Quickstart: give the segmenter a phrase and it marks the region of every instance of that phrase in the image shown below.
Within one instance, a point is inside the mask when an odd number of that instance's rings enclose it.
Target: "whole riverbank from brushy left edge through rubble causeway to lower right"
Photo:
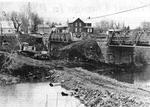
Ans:
[[[17,82],[62,82],[63,88],[78,90],[75,97],[87,107],[150,106],[149,91],[84,70],[79,66],[81,62],[39,61],[18,54],[7,56],[9,60],[1,73],[19,78]]]

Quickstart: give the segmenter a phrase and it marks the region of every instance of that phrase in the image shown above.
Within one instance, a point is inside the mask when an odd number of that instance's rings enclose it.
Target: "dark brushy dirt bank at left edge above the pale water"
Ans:
[[[34,60],[18,54],[1,53],[1,74],[18,78],[18,82],[41,82],[52,79],[50,69],[44,61]],[[7,83],[7,79],[5,79]],[[12,81],[13,83],[13,81]]]

